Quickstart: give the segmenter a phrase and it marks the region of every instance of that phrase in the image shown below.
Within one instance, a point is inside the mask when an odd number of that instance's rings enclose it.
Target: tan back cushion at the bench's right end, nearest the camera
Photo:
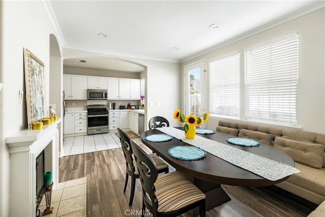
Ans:
[[[277,137],[274,147],[288,154],[295,162],[317,169],[322,167],[324,147],[320,144]]]

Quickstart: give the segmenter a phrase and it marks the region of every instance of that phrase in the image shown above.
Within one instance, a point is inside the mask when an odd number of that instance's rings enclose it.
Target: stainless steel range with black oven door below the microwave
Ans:
[[[88,108],[88,135],[108,133],[107,108]]]

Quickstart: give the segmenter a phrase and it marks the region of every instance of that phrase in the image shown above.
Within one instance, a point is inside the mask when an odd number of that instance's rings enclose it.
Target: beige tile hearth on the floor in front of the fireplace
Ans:
[[[74,216],[86,217],[87,177],[73,179],[58,183],[58,187],[52,191],[51,206],[53,213],[45,216]],[[46,209],[45,196],[41,201],[39,210],[43,216]]]

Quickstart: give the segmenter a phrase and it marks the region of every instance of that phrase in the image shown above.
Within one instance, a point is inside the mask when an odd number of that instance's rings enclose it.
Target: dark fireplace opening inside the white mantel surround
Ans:
[[[40,216],[39,206],[44,195],[44,150],[36,158],[36,216]]]

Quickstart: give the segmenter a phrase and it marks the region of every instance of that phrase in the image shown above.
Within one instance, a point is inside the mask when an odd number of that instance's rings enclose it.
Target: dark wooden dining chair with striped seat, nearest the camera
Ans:
[[[177,216],[199,206],[205,217],[205,194],[180,172],[158,176],[157,165],[150,156],[131,140],[142,185],[142,217],[146,208],[157,216]]]

